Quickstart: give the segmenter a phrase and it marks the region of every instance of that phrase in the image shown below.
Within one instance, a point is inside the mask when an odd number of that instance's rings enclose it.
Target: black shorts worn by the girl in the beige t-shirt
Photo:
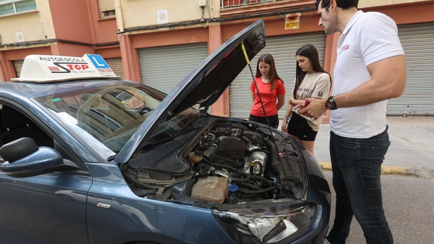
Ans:
[[[307,123],[307,120],[296,112],[291,113],[287,129],[289,134],[298,137],[299,140],[313,141],[317,137],[318,133],[312,130],[312,127]]]

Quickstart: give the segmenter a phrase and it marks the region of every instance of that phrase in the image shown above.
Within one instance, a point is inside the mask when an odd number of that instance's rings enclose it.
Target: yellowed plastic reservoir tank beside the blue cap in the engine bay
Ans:
[[[227,178],[208,176],[199,178],[191,190],[191,197],[198,200],[222,203],[227,193]]]

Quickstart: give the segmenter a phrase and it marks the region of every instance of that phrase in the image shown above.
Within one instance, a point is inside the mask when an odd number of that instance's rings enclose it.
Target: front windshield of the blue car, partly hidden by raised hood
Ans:
[[[149,114],[165,98],[162,93],[139,84],[118,84],[38,97],[81,139],[103,158],[117,154]],[[195,117],[188,108],[162,123],[149,143],[175,137]]]

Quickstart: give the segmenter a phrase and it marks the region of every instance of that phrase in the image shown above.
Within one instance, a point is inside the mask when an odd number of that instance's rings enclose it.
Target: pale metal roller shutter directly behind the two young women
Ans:
[[[304,44],[312,44],[318,49],[320,63],[324,64],[325,35],[324,33],[311,33],[300,35],[285,35],[268,37],[265,47],[253,58],[251,66],[253,75],[256,72],[256,62],[261,54],[269,53],[276,63],[276,70],[285,82],[286,101],[289,100],[290,92],[294,86],[295,78],[295,52]],[[252,75],[249,67],[246,67],[232,82],[229,88],[230,116],[237,118],[249,118],[252,108],[252,95],[250,84]],[[285,116],[288,102],[279,110],[279,118]]]

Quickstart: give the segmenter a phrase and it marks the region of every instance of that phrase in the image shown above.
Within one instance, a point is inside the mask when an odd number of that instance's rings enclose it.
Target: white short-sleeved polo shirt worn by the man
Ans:
[[[367,66],[403,55],[398,28],[390,17],[378,12],[357,11],[337,44],[333,72],[333,96],[350,92],[371,79]],[[370,138],[386,129],[386,101],[330,111],[330,129],[349,138]]]

